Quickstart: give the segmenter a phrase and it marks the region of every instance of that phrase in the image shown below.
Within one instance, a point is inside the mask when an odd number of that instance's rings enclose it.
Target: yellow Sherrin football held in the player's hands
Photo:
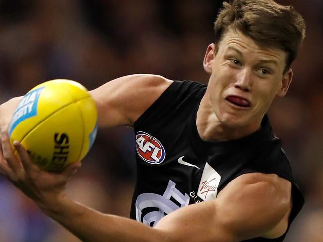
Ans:
[[[10,142],[19,141],[32,162],[49,172],[81,161],[96,131],[93,99],[80,83],[63,79],[31,89],[18,104],[8,127]]]

